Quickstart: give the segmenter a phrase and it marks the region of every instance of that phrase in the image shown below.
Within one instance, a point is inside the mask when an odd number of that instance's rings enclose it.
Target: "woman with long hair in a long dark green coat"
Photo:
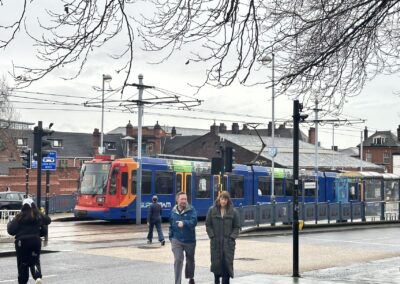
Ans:
[[[236,238],[239,236],[239,213],[233,207],[229,192],[222,191],[207,213],[206,230],[210,238],[211,272],[214,283],[228,284],[233,278]]]

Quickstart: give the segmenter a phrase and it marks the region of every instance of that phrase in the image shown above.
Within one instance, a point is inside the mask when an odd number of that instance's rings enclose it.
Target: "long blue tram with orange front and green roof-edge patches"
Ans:
[[[114,160],[105,155],[85,162],[80,173],[75,216],[103,220],[135,219],[138,167],[132,158]],[[300,171],[299,202],[370,200],[376,198],[374,186],[378,180],[383,187],[381,174],[370,174],[367,178],[366,174],[319,172],[316,178],[313,172]],[[391,188],[391,191],[387,190],[387,196],[398,200],[399,177],[397,183],[395,181],[395,176],[392,176],[391,183],[387,183]],[[275,168],[272,192],[269,167],[235,164],[232,173],[221,177],[211,174],[208,161],[144,157],[141,216],[147,218],[147,207],[152,196],[157,195],[163,206],[163,217],[168,217],[179,191],[187,193],[199,216],[205,216],[218,195],[220,183],[230,192],[235,206],[290,202],[293,199],[294,183],[290,169]]]

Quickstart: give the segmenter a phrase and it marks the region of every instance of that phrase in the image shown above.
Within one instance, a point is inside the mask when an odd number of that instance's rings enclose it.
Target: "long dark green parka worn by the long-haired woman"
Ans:
[[[206,218],[206,230],[210,238],[211,272],[222,274],[224,257],[229,275],[233,278],[236,238],[240,230],[239,213],[231,205],[222,218],[219,207],[210,207]]]

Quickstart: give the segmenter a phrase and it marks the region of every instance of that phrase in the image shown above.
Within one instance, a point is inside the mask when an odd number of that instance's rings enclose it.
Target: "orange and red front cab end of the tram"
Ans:
[[[82,165],[75,217],[102,220],[134,218],[137,162],[96,155]],[[131,182],[129,182],[131,181]]]

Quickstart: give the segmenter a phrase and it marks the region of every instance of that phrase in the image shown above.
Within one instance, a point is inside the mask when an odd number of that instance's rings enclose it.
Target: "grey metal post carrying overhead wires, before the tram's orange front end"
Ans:
[[[143,117],[143,75],[139,74],[138,134],[137,134],[137,182],[136,182],[136,224],[142,222],[142,117]]]

